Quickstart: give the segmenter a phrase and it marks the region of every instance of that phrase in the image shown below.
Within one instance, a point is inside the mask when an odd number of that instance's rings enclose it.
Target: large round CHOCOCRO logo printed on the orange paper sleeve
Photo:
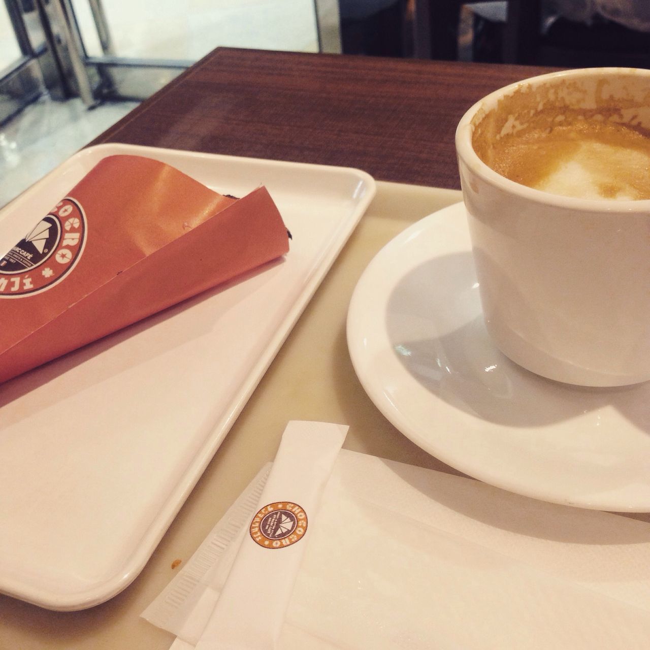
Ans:
[[[51,289],[70,273],[86,244],[86,215],[65,198],[0,259],[0,298]]]

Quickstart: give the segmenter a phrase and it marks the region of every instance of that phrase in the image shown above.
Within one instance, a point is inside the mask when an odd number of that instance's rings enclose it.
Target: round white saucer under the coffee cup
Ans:
[[[372,260],[348,346],[383,415],[448,465],[536,499],[650,512],[650,382],[575,387],[503,356],[484,327],[462,203]]]

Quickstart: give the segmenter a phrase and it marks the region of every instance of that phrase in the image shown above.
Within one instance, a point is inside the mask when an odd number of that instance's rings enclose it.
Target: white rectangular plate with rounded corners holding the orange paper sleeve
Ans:
[[[0,385],[0,591],[55,610],[140,573],[375,192],[359,170],[105,144],[1,210],[0,247],[116,153],[235,196],[265,185],[293,239],[262,272]]]

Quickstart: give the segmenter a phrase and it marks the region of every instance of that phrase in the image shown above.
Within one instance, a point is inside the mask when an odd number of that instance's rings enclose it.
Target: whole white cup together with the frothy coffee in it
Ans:
[[[650,70],[551,73],[472,107],[456,149],[489,334],[561,382],[650,379]]]

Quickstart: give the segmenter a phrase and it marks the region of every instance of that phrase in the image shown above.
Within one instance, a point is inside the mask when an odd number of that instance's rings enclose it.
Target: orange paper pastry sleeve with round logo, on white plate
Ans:
[[[288,250],[265,188],[235,199],[159,161],[105,158],[0,259],[0,382]]]

